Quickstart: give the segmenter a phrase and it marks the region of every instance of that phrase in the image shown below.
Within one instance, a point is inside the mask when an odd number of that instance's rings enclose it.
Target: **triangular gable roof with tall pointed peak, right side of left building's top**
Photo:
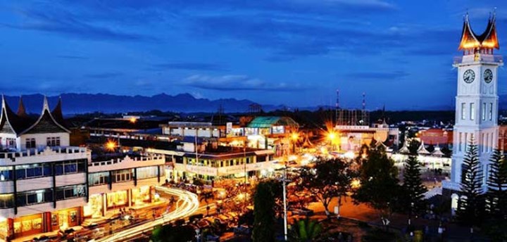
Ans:
[[[70,133],[70,131],[67,128],[63,127],[63,125],[58,123],[53,117],[53,115],[51,115],[47,97],[44,96],[44,104],[42,105],[42,113],[39,116],[39,119],[32,126],[25,129],[25,131],[21,132],[21,134],[39,134],[39,133],[57,133],[57,132]]]

